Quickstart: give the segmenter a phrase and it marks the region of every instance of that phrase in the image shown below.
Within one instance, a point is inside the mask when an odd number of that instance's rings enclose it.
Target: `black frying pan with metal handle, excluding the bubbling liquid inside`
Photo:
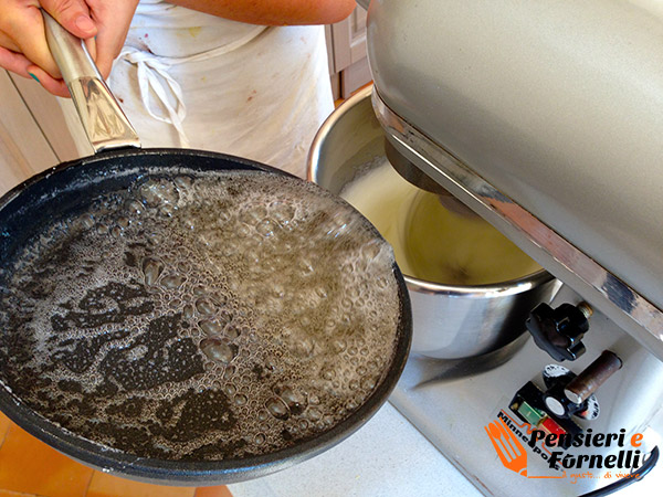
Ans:
[[[119,112],[82,44],[46,19],[49,41],[61,65],[84,126],[97,154],[62,163],[18,186],[0,199],[0,260],[3,267],[14,261],[27,240],[40,233],[53,218],[82,209],[99,194],[127,188],[155,165],[166,175],[180,172],[260,170],[282,171],[246,159],[199,150],[138,149],[133,128]],[[75,45],[75,46],[74,46]],[[75,50],[74,50],[75,49]],[[69,61],[69,62],[67,62]],[[73,62],[72,62],[73,61]],[[101,107],[99,107],[101,106]],[[102,112],[107,109],[108,112]],[[112,150],[98,151],[119,147]],[[0,410],[25,431],[57,451],[87,465],[139,480],[180,485],[227,484],[250,479],[309,458],[344,440],[360,427],[387,400],[409,352],[412,322],[404,281],[394,265],[399,286],[400,321],[397,346],[382,381],[364,404],[326,432],[278,452],[223,461],[167,461],[109,451],[63,430],[29,408],[7,387],[0,363]],[[2,331],[0,331],[2,332]],[[11,353],[11,350],[9,350]]]

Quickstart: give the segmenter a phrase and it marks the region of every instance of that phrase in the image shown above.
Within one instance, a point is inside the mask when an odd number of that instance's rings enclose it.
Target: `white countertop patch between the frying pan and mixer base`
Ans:
[[[357,433],[319,456],[229,488],[234,497],[481,495],[389,403]]]

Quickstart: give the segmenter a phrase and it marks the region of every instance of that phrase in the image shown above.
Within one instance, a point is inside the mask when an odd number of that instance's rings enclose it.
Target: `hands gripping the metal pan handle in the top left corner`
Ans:
[[[0,0],[0,67],[34,77],[54,95],[69,96],[51,56],[39,8],[86,40],[102,75],[107,77],[137,4],[138,0]]]

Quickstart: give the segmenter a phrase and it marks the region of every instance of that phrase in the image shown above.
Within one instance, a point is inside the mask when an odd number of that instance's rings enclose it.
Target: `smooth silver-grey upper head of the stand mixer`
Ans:
[[[373,0],[368,38],[386,107],[604,269],[588,294],[512,236],[663,357],[663,4]],[[649,324],[596,302],[632,307],[614,281]]]

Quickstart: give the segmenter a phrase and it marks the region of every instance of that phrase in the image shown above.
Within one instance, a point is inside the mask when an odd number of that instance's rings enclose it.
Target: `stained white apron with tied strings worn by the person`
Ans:
[[[144,147],[214,150],[301,177],[334,109],[324,27],[257,27],[160,0],[138,4],[108,85]]]

